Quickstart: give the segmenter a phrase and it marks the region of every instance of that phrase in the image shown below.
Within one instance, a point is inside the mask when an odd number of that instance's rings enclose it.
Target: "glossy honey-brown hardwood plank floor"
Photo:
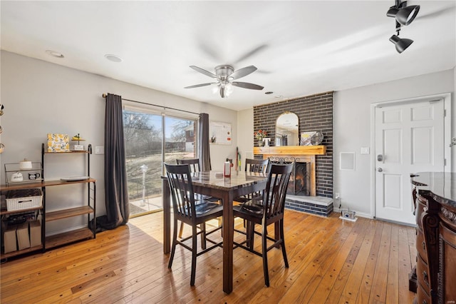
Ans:
[[[236,222],[242,227],[242,222]],[[172,270],[162,253],[162,213],[46,253],[1,265],[1,303],[412,303],[415,230],[338,214],[321,218],[286,211],[289,268],[269,251],[271,287],[261,258],[234,250],[233,292],[222,291],[222,249],[197,259],[178,247]],[[271,232],[274,229],[271,229]],[[219,233],[216,233],[219,238]],[[240,238],[241,236],[237,236]],[[260,245],[256,240],[255,245]]]

